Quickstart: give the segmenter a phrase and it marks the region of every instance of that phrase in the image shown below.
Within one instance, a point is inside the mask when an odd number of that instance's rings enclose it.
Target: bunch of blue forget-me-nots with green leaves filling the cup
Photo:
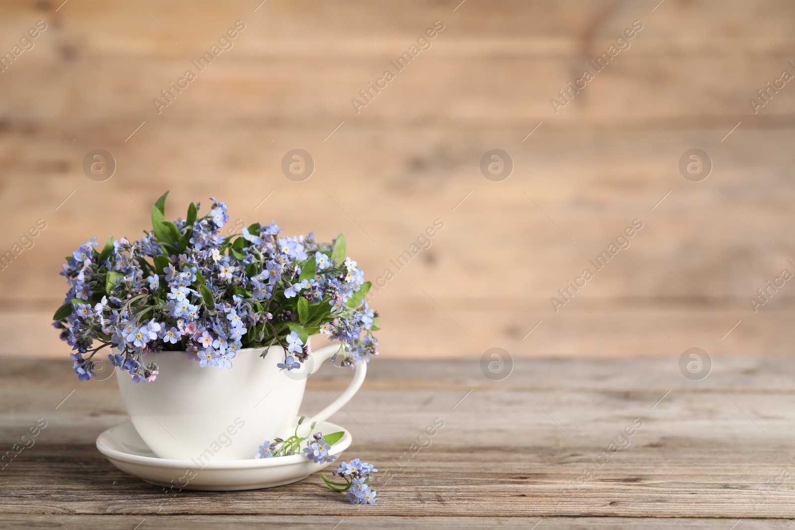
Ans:
[[[364,300],[370,282],[347,257],[343,234],[332,243],[312,233],[285,238],[271,222],[226,236],[223,202],[211,197],[202,217],[191,203],[185,219],[169,222],[168,194],[142,238],[110,238],[102,250],[93,238],[66,258],[69,290],[53,325],[72,345],[80,380],[95,377],[92,358],[106,346],[135,382],[157,377],[145,362],[153,351],[186,351],[202,367],[224,369],[242,348],[277,344],[286,352],[279,367],[291,370],[311,354],[308,337],[323,333],[342,342],[332,358],[339,366],[378,354],[378,315]]]

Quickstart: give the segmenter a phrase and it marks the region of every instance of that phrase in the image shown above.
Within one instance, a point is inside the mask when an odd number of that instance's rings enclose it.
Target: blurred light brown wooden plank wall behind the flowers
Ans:
[[[795,74],[795,4],[459,1],[3,2],[0,51],[48,29],[0,73],[0,253],[47,228],[0,272],[0,353],[68,354],[48,327],[62,257],[138,237],[165,189],[171,217],[215,195],[233,222],[347,234],[367,277],[396,273],[373,299],[384,355],[789,351],[795,280],[756,313],[748,298],[795,272],[795,82],[758,114],[748,99]],[[157,114],[238,20],[234,47]],[[437,20],[432,48],[356,114]],[[631,47],[555,114],[549,100],[633,21]],[[101,183],[82,168],[98,148],[118,164]],[[304,182],[281,173],[296,148],[316,163]],[[495,148],[514,161],[502,182],[479,169]],[[703,182],[678,170],[692,148],[712,157]],[[434,219],[444,229],[397,272]],[[553,311],[633,219],[630,248]]]

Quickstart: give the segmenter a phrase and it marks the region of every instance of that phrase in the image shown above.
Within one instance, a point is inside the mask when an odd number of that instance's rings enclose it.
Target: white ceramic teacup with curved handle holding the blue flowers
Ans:
[[[117,370],[118,388],[135,430],[160,458],[209,461],[254,458],[266,440],[287,439],[296,427],[306,379],[339,351],[339,344],[312,351],[301,368],[279,369],[285,350],[271,346],[239,350],[232,368],[218,369],[188,359],[184,352],[148,354],[157,379],[134,383]],[[353,381],[337,399],[308,416],[299,435],[308,435],[313,421],[328,420],[362,386],[366,362],[359,362]],[[330,434],[330,433],[325,433]]]

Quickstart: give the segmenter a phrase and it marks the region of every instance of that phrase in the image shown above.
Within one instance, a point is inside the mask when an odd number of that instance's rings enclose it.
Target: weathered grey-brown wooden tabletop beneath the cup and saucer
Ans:
[[[518,360],[491,381],[476,362],[377,358],[332,417],[354,437],[345,457],[394,472],[372,506],[317,475],[169,497],[95,447],[127,419],[113,378],[79,383],[66,362],[10,360],[2,451],[38,418],[47,427],[0,471],[0,528],[792,528],[795,362],[713,360],[702,381],[683,377],[677,358]],[[347,377],[321,370],[304,409]],[[432,444],[400,468],[394,458],[436,418]]]

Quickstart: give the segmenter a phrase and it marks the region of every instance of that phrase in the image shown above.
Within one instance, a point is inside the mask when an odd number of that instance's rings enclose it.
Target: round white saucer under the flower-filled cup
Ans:
[[[328,421],[320,422],[316,431],[345,431],[342,439],[329,451],[339,456],[351,446],[353,438],[343,427]],[[261,489],[284,486],[323,470],[328,463],[316,464],[302,455],[250,460],[219,460],[199,467],[192,460],[157,458],[146,446],[130,422],[111,427],[97,438],[97,449],[118,469],[156,486],[204,491]],[[251,455],[258,447],[251,448]],[[336,466],[337,462],[332,463]]]

